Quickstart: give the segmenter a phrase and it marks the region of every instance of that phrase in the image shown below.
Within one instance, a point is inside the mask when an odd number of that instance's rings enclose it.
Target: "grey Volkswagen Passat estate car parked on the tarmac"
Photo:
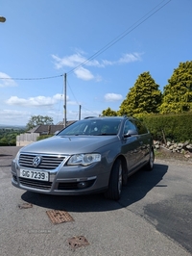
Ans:
[[[138,119],[91,117],[56,136],[22,147],[12,160],[12,185],[30,192],[104,192],[118,200],[136,170],[154,166],[153,138]]]

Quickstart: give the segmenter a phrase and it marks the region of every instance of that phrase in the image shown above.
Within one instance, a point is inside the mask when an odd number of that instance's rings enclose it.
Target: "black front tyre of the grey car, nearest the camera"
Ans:
[[[112,166],[108,183],[108,191],[105,196],[108,199],[118,200],[122,192],[123,167],[120,159],[117,159]]]

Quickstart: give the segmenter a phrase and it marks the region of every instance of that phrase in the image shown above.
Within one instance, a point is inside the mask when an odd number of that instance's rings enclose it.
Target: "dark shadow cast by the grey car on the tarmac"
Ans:
[[[155,164],[153,171],[139,170],[128,180],[119,201],[108,200],[102,193],[89,195],[50,195],[36,192],[24,192],[22,200],[36,206],[68,212],[113,211],[132,205],[141,200],[163,179],[168,166]]]

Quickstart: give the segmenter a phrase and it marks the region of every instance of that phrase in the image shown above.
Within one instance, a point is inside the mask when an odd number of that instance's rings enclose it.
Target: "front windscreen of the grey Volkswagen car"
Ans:
[[[119,131],[120,119],[84,119],[77,121],[62,130],[59,136],[109,136],[117,135]]]

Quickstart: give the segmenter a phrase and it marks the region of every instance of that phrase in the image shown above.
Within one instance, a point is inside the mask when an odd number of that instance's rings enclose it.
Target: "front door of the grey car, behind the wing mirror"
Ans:
[[[135,131],[135,134],[127,137],[129,131]],[[122,153],[126,157],[129,172],[132,172],[140,164],[140,143],[136,134],[136,126],[130,120],[126,120],[123,129]]]

